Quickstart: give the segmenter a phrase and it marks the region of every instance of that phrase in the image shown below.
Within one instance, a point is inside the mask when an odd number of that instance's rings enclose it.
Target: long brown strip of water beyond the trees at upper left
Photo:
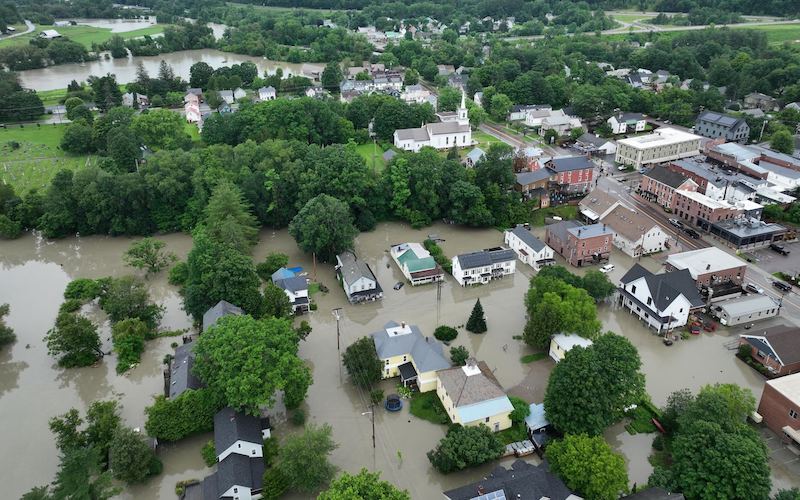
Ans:
[[[214,28],[212,27],[212,29]],[[222,27],[222,25],[218,25],[217,28],[215,28],[215,33],[220,32],[220,30],[224,32],[224,27]],[[91,75],[102,76],[106,73],[116,75],[117,83],[124,84],[136,80],[136,68],[140,61],[147,72],[150,73],[151,76],[155,76],[158,74],[158,66],[162,60],[172,66],[176,76],[180,76],[187,81],[189,80],[189,68],[191,68],[192,64],[201,61],[209,64],[212,68],[252,62],[258,66],[259,75],[263,75],[265,72],[273,74],[278,68],[281,68],[284,76],[302,75],[304,66],[306,68],[314,68],[318,71],[324,69],[323,64],[295,64],[283,61],[270,61],[263,57],[231,54],[215,49],[198,49],[170,52],[157,56],[129,56],[121,59],[105,59],[101,57],[97,61],[59,64],[47,68],[18,71],[17,74],[19,75],[22,86],[32,90],[63,89],[66,88],[72,80],[82,82]]]

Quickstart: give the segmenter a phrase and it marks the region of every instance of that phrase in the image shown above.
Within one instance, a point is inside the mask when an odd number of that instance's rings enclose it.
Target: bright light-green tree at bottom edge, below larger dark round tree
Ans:
[[[625,459],[601,436],[567,434],[547,448],[550,468],[584,498],[615,500],[628,492]]]

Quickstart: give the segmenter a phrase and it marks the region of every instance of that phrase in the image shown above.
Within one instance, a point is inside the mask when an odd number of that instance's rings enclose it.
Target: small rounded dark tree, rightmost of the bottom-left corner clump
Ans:
[[[128,484],[144,481],[151,471],[160,467],[152,448],[145,443],[142,435],[129,427],[120,427],[114,433],[108,451],[108,468],[114,479]]]

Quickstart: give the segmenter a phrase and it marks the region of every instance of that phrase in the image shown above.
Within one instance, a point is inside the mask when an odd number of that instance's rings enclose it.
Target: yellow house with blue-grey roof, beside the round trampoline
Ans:
[[[403,385],[420,392],[436,389],[437,370],[451,366],[442,344],[422,335],[416,325],[390,321],[372,334],[372,341],[383,362],[383,378],[400,376]]]

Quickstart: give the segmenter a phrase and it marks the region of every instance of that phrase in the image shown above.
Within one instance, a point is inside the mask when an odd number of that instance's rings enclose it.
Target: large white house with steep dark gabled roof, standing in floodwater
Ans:
[[[688,269],[653,274],[639,264],[620,280],[619,301],[659,334],[685,325],[704,305]]]

